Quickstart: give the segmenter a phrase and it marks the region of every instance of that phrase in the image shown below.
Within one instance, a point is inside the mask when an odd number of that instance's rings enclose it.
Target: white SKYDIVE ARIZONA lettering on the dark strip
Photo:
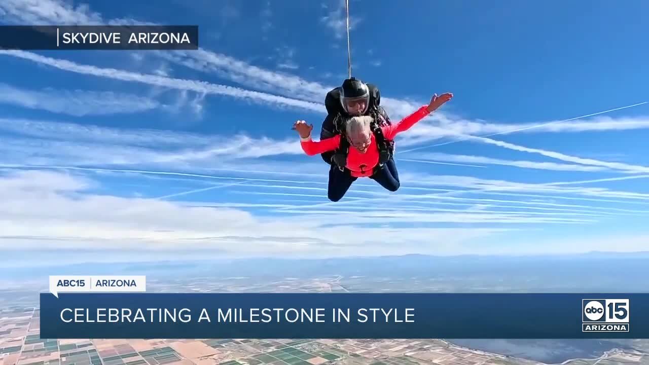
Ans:
[[[130,32],[129,32],[130,33]],[[121,32],[64,32],[63,44],[121,44]],[[191,44],[186,32],[133,32],[128,44]]]

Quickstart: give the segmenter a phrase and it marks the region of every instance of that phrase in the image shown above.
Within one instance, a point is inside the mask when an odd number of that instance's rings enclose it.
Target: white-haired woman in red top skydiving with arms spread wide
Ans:
[[[383,138],[394,140],[398,133],[408,131],[415,123],[437,110],[452,97],[453,94],[450,93],[433,95],[430,104],[422,106],[398,123],[380,127]],[[391,166],[394,164],[393,159],[390,158],[385,164],[379,163],[380,151],[376,141],[376,132],[373,133],[371,130],[372,121],[371,116],[354,116],[345,123],[345,136],[337,134],[332,138],[318,142],[312,140],[311,137],[313,125],[307,125],[303,120],[293,124],[293,129],[300,135],[302,149],[309,156],[337,149],[341,144],[341,138],[346,138],[351,146],[345,166],[349,173],[337,168],[332,168],[329,171],[328,197],[331,201],[339,201],[359,177],[369,177],[391,192],[395,192],[399,188],[398,179],[393,175],[393,171],[396,169]]]

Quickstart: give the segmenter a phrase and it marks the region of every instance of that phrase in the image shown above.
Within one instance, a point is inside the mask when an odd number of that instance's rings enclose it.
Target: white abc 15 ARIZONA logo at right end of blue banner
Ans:
[[[629,332],[629,299],[582,299],[582,332]]]

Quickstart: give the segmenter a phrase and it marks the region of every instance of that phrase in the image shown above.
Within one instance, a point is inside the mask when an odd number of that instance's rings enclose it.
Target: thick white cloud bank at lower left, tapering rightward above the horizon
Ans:
[[[335,255],[336,251],[360,253],[367,245],[384,245],[386,239],[397,252],[404,245],[424,242],[430,245],[424,250],[435,251],[438,241],[461,245],[502,231],[323,227],[327,220],[262,218],[234,208],[183,207],[159,199],[90,194],[84,192],[89,184],[96,183],[43,171],[1,177],[0,247],[8,249],[20,242],[25,249],[90,245],[95,249],[222,249],[239,255]],[[456,219],[463,217],[439,218]],[[352,232],[358,234],[354,242],[347,239]]]

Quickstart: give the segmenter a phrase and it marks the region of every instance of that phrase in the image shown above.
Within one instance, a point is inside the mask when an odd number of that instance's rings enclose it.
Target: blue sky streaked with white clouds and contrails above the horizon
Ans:
[[[398,192],[361,179],[331,203],[328,166],[291,125],[319,130],[324,94],[347,77],[344,10],[3,1],[4,24],[199,25],[201,49],[0,51],[0,248],[110,259],[649,247],[649,5],[350,1],[352,73],[378,84],[391,118],[454,98],[398,137]]]

